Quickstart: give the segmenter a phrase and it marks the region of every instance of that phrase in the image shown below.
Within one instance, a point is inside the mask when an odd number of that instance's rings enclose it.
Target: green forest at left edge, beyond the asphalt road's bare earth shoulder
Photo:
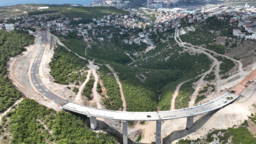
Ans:
[[[6,74],[6,62],[10,57],[20,54],[24,46],[34,43],[34,36],[25,31],[0,31],[0,112],[10,107],[20,98],[20,92],[16,90]]]

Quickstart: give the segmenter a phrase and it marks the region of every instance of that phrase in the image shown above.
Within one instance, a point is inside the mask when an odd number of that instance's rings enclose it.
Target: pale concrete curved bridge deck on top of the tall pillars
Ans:
[[[227,100],[226,103],[223,103],[226,100],[226,97],[233,96],[234,99]],[[188,116],[196,116],[199,114],[203,114],[212,110],[216,110],[222,108],[229,103],[236,100],[239,96],[225,93],[221,97],[209,101],[207,103],[197,105],[190,108],[183,108],[177,110],[170,111],[160,111],[160,112],[127,112],[127,111],[113,111],[113,110],[105,110],[98,109],[93,107],[88,107],[80,104],[76,104],[73,102],[69,102],[62,106],[62,108],[74,111],[80,114],[95,116],[101,118],[115,119],[115,120],[127,120],[127,121],[155,121],[155,120],[168,120],[168,119],[176,119]],[[150,116],[150,117],[148,117]]]

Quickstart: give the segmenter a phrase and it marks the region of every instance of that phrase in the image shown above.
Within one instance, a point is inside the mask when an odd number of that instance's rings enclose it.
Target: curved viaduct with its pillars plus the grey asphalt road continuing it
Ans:
[[[206,112],[210,112],[216,109],[223,108],[229,103],[236,100],[239,95],[225,93],[221,97],[209,101],[204,104],[200,104],[194,107],[170,110],[170,111],[159,111],[159,112],[128,112],[128,111],[113,111],[106,109],[99,109],[80,105],[74,102],[69,102],[62,99],[60,96],[50,92],[44,84],[41,82],[39,77],[38,69],[44,53],[45,42],[46,42],[46,32],[41,33],[42,40],[35,57],[34,63],[31,69],[31,79],[34,85],[34,88],[37,92],[43,95],[46,99],[54,101],[56,104],[60,105],[63,110],[73,111],[79,114],[86,115],[90,117],[91,129],[97,127],[96,117],[107,118],[114,120],[121,120],[123,125],[123,141],[124,144],[128,144],[127,137],[127,121],[156,121],[156,144],[161,143],[161,123],[163,120],[177,119],[187,117],[186,128],[190,129],[193,126],[194,117]],[[233,96],[234,99],[227,100],[226,103],[223,103],[226,100],[227,96]]]

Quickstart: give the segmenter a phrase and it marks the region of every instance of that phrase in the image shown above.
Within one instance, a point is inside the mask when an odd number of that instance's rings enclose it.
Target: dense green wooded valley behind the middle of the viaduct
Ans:
[[[73,44],[74,41],[76,44]],[[101,64],[108,63],[114,68],[122,83],[127,111],[155,111],[157,106],[161,110],[169,110],[175,86],[207,71],[211,65],[204,54],[183,52],[184,48],[174,39],[158,45],[142,57],[133,56],[137,61],[130,66],[127,64],[132,60],[125,52],[132,56],[132,51],[124,45],[115,46],[108,42],[93,41],[91,48],[86,49],[84,42],[75,39],[66,38],[63,43],[89,60]],[[106,76],[111,73],[108,69],[101,67],[99,71],[103,84],[107,84],[105,88],[109,96],[104,105],[107,109],[117,110],[122,106],[122,100],[118,88],[115,88],[115,79],[112,75]]]

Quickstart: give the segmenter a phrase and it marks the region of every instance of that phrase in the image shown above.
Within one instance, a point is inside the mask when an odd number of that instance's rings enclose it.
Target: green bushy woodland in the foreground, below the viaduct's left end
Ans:
[[[0,136],[7,139],[3,133],[10,132],[12,144],[118,143],[117,139],[108,133],[96,133],[90,130],[84,124],[85,118],[84,115],[75,115],[64,111],[56,112],[44,105],[39,105],[35,100],[25,98],[17,108],[2,118]]]

